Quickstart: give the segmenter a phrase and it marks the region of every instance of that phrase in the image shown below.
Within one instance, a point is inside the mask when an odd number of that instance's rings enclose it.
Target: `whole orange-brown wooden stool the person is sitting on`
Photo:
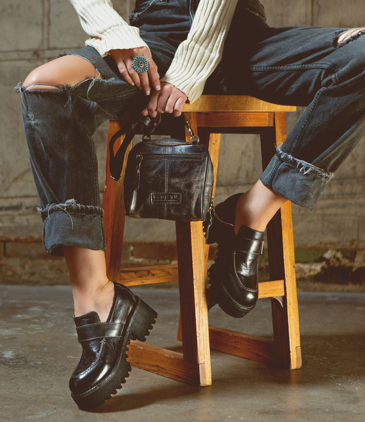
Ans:
[[[275,145],[285,141],[285,111],[296,111],[296,108],[266,103],[244,95],[202,95],[194,104],[185,105],[184,113],[194,133],[198,133],[200,142],[209,148],[214,167],[214,184],[221,133],[260,134],[262,166],[266,168],[275,154]],[[123,125],[120,121],[109,122],[108,142]],[[187,131],[186,140],[190,140]],[[115,151],[120,143],[115,146]],[[125,156],[124,167],[130,149],[131,145]],[[210,348],[280,368],[300,368],[290,201],[281,207],[267,227],[271,280],[260,282],[258,289],[259,298],[273,299],[272,341],[220,327],[208,327],[208,306],[213,303],[205,284],[209,245],[205,245],[202,222],[176,222],[178,265],[120,270],[125,222],[123,178],[124,168],[120,181],[110,178],[108,150],[103,197],[108,277],[126,286],[179,279],[181,323],[178,338],[183,345],[183,353],[178,353],[131,341],[128,352],[131,365],[200,386],[211,384]],[[213,193],[214,189],[215,186]],[[278,296],[282,296],[282,301],[277,299]]]

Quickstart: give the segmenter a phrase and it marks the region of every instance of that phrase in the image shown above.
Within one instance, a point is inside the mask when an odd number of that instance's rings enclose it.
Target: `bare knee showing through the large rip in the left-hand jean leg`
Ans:
[[[88,78],[101,78],[96,68],[80,56],[69,54],[41,65],[29,73],[23,87],[32,89],[60,89],[76,85]]]

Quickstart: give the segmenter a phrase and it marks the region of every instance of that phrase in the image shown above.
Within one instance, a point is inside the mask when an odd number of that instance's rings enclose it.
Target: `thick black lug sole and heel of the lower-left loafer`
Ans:
[[[120,345],[120,356],[112,369],[111,373],[91,390],[83,394],[71,397],[81,410],[91,410],[101,406],[105,400],[112,398],[112,394],[116,394],[117,390],[125,384],[126,378],[132,367],[127,361],[127,350],[131,340],[146,341],[149,331],[155,324],[157,312],[147,305],[141,298],[136,296],[136,305],[132,310],[128,327],[123,342]]]

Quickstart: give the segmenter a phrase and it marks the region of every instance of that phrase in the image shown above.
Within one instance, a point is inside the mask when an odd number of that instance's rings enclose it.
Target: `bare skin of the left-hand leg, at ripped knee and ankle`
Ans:
[[[101,76],[88,60],[71,54],[32,70],[23,86],[29,90],[58,89],[66,84],[76,85],[88,78]],[[64,246],[64,256],[72,285],[75,317],[96,311],[101,322],[105,322],[114,299],[114,284],[107,277],[104,251]]]

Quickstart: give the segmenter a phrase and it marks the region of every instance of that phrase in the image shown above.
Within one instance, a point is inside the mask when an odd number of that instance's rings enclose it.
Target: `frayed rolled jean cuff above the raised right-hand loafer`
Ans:
[[[279,146],[260,180],[291,202],[313,210],[333,176],[334,173],[292,157]]]

